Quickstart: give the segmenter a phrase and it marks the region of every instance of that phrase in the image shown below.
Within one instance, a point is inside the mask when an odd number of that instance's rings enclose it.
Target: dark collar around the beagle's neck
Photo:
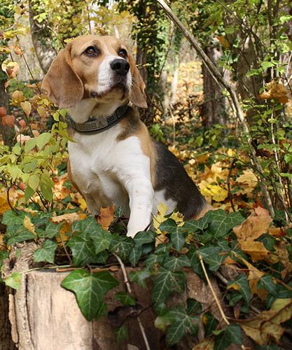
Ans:
[[[82,134],[97,134],[108,130],[113,125],[116,125],[125,117],[127,112],[127,104],[125,106],[118,107],[116,111],[109,117],[99,117],[97,119],[88,119],[85,123],[75,123],[74,120],[69,116],[69,125],[76,132]]]

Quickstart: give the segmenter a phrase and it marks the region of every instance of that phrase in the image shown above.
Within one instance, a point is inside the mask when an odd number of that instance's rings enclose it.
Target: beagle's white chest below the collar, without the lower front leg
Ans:
[[[85,197],[88,211],[115,204],[130,214],[127,187],[141,178],[151,182],[150,160],[141,150],[138,137],[117,141],[120,127],[95,135],[75,134],[69,142],[72,177]]]

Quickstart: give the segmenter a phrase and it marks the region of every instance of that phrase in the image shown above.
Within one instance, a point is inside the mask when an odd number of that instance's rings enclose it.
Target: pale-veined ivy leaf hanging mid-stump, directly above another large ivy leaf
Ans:
[[[185,290],[186,272],[183,271],[169,271],[160,267],[151,279],[153,281],[152,302],[166,302],[173,291],[183,293]]]

